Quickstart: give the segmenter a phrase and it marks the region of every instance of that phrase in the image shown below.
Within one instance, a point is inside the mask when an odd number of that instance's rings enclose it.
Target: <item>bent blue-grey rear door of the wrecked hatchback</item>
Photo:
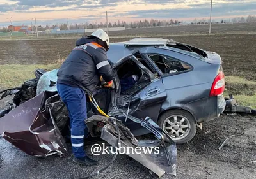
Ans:
[[[138,59],[135,57],[139,52],[135,52],[134,54],[129,55],[129,59],[134,61],[140,69],[147,73],[150,76],[150,83],[147,86],[143,87],[143,89],[139,90],[131,96],[132,101],[137,101],[138,103],[134,103],[134,106],[127,106],[126,108],[136,109],[132,110],[130,115],[139,119],[145,119],[146,117],[150,117],[154,122],[157,122],[159,111],[161,110],[161,104],[166,100],[167,94],[164,89],[163,82],[161,78],[157,78],[154,74],[146,68]],[[127,59],[128,57],[125,57]],[[117,68],[118,66],[115,66]],[[124,121],[124,118],[121,120]],[[147,134],[148,131],[144,127],[141,127],[140,124],[134,124],[132,120],[127,120],[124,122],[127,127],[129,127],[132,133],[137,135]]]

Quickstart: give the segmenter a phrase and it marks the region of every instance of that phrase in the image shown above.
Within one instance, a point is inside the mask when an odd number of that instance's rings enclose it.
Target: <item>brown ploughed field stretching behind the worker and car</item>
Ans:
[[[223,58],[225,74],[256,79],[256,34],[211,36],[163,36],[217,52]],[[132,38],[114,38],[112,42]],[[47,64],[65,59],[76,39],[0,41],[0,64]]]

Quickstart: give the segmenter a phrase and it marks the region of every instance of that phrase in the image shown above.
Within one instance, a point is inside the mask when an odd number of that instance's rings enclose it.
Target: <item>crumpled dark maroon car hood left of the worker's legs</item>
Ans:
[[[42,103],[49,96],[52,96],[52,92],[42,92],[0,120],[3,138],[29,155],[46,157],[68,154],[65,140],[52,120],[51,110]]]

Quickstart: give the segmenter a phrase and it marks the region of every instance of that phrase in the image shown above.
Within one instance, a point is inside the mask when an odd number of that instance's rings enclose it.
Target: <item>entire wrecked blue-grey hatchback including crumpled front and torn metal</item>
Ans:
[[[115,73],[113,89],[99,86],[95,94],[87,94],[85,122],[91,136],[100,136],[110,145],[160,146],[159,155],[130,157],[158,177],[175,175],[175,143],[188,142],[197,124],[225,110],[220,55],[168,39],[138,38],[112,43],[108,58]],[[1,92],[1,99],[14,97],[0,111],[0,132],[29,155],[68,154],[69,118],[56,90],[57,71],[38,69],[36,78]],[[154,140],[136,138],[149,133]]]

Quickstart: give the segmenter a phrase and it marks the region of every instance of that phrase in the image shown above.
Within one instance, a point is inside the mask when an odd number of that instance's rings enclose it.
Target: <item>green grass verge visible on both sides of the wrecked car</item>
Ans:
[[[0,65],[0,87],[1,89],[19,87],[24,81],[35,78],[35,69],[42,68],[46,71],[60,67],[56,64],[31,64],[31,65]],[[239,76],[226,76],[225,97],[233,94],[237,103],[243,106],[256,108],[256,82],[249,81]]]

